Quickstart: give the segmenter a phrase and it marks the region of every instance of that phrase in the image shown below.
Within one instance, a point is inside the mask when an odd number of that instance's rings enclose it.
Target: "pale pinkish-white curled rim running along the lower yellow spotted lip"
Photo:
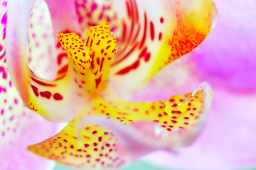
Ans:
[[[204,108],[196,125],[192,128],[169,133],[162,130],[159,125],[147,121],[139,121],[131,125],[121,126],[111,120],[106,120],[95,115],[88,115],[77,126],[77,135],[79,136],[81,134],[82,127],[85,124],[92,122],[111,130],[119,140],[119,154],[125,157],[128,156],[126,157],[128,162],[133,162],[135,159],[157,149],[166,149],[178,153],[182,147],[192,145],[204,128],[208,111],[211,107],[212,91],[206,82],[200,84],[194,90],[193,94],[196,94],[199,90],[204,91]],[[149,132],[149,130],[152,131]]]

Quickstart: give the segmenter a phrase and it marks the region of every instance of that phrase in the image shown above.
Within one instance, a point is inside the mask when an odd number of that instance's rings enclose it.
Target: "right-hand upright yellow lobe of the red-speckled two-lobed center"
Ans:
[[[89,28],[84,44],[91,50],[91,71],[95,75],[96,89],[101,91],[106,87],[108,69],[116,55],[116,38],[112,37],[108,23],[103,21]]]

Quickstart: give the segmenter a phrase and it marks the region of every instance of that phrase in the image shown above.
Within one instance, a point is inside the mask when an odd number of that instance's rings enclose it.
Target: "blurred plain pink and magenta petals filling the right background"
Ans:
[[[174,88],[186,89],[202,79],[213,87],[213,103],[204,132],[193,146],[178,155],[156,152],[145,157],[149,162],[170,169],[243,169],[256,166],[256,2],[214,0],[218,23],[208,38],[182,58],[174,69],[182,72]],[[193,66],[194,65],[194,66]],[[172,66],[166,68],[172,71]],[[171,69],[171,70],[170,70]],[[155,77],[151,86],[137,97],[160,96],[173,77],[168,72]],[[157,88],[156,88],[157,87]],[[156,90],[150,94],[149,89]],[[159,159],[157,159],[159,158]]]

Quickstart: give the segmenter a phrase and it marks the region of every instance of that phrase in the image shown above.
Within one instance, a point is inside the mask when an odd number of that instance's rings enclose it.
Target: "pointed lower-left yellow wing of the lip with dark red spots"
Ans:
[[[76,168],[110,168],[123,164],[116,152],[116,137],[99,126],[89,124],[77,136],[79,118],[48,140],[31,145],[28,149],[42,157]]]

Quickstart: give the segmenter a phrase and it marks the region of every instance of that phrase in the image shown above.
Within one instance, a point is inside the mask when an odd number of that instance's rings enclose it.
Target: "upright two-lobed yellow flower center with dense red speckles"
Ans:
[[[79,88],[85,87],[88,94],[105,89],[116,55],[116,38],[111,36],[108,23],[89,28],[84,42],[76,33],[58,33],[57,37],[67,51],[69,74],[73,74]]]

